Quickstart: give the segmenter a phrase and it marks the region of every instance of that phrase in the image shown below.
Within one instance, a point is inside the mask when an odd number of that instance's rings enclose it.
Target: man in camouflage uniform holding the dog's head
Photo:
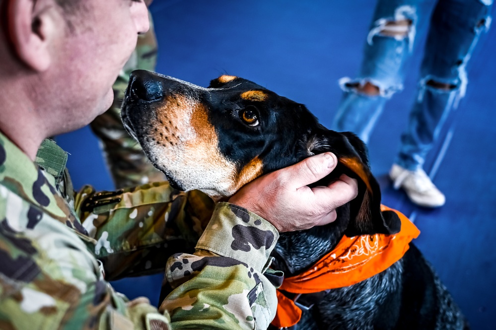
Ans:
[[[235,204],[166,182],[74,193],[67,154],[45,138],[109,108],[112,83],[148,29],[146,7],[0,0],[0,17],[0,329],[266,328],[281,275],[267,269],[278,230],[331,222],[356,196],[347,178],[305,186],[336,157],[255,180]],[[156,271],[173,289],[158,310],[107,282]]]

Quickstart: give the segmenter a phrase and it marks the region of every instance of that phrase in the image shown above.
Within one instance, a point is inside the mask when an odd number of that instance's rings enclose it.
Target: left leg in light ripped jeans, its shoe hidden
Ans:
[[[391,95],[403,88],[403,68],[432,1],[379,0],[356,79],[342,78],[342,101],[332,126],[365,143]]]

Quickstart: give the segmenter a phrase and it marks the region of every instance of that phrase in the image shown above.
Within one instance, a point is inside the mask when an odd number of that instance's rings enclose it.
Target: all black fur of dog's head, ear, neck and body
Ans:
[[[209,89],[143,71],[135,72],[132,79],[142,79],[143,88],[152,86],[148,92],[139,92],[145,95],[144,100],[136,93],[132,95],[131,85],[126,93],[123,119],[135,136],[140,132],[133,127],[149,127],[147,118],[152,121],[153,116],[139,113],[133,118],[128,108],[153,111],[160,105],[157,90],[163,90],[165,96],[187,94],[206,106],[221,154],[240,170],[254,157],[263,161],[263,173],[268,173],[331,151],[340,164],[317,184],[328,184],[343,173],[358,179],[358,197],[338,208],[335,222],[281,234],[273,266],[286,276],[308,269],[329,253],[343,235],[393,234],[400,230],[401,223],[394,212],[380,211],[380,189],[370,172],[363,142],[353,133],[327,130],[304,105],[242,78],[226,83],[214,79]],[[267,97],[252,101],[240,97],[250,90],[262,91]],[[258,116],[258,126],[251,127],[242,120],[247,109]],[[303,313],[295,329],[461,330],[468,329],[468,325],[430,265],[410,244],[405,256],[385,271],[355,285],[330,290]]]

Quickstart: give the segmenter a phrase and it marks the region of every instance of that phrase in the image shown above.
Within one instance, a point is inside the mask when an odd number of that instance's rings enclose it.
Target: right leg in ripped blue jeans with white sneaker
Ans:
[[[489,2],[440,0],[432,13],[419,97],[401,137],[395,161],[398,166],[393,166],[390,173],[395,186],[404,188],[414,202],[423,206],[444,204],[444,196],[431,184],[422,167],[451,109],[465,95],[467,63],[481,32],[487,30],[491,21]]]

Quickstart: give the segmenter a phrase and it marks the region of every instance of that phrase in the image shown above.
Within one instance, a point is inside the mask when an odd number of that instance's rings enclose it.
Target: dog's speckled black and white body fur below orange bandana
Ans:
[[[427,279],[415,275],[418,268]],[[327,292],[309,311],[303,311],[300,322],[290,329],[470,328],[431,266],[411,245],[404,258],[385,271]]]

